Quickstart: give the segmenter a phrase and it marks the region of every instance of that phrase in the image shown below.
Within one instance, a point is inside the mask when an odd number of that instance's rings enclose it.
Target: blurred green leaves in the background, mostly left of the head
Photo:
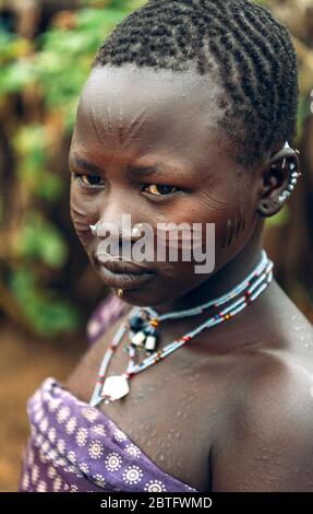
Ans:
[[[64,11],[62,19],[57,17],[33,40],[0,26],[0,115],[8,110],[10,98],[23,98],[29,92],[36,95],[44,113],[35,121],[20,119],[17,114],[5,128],[15,157],[12,182],[17,184],[22,208],[13,236],[5,240],[5,252],[0,254],[0,266],[2,258],[8,270],[5,287],[21,313],[34,331],[46,337],[76,330],[82,319],[77,306],[46,279],[47,272],[49,276],[62,269],[70,255],[67,236],[50,218],[50,209],[68,202],[65,178],[50,165],[51,122],[53,117],[61,118],[62,130],[71,133],[79,96],[97,48],[125,14],[143,3],[144,0],[82,0],[79,10]],[[299,136],[309,114],[308,98],[302,96]],[[286,223],[288,217],[286,207],[268,223]],[[0,198],[3,233],[4,218]],[[3,304],[2,307],[5,308]]]

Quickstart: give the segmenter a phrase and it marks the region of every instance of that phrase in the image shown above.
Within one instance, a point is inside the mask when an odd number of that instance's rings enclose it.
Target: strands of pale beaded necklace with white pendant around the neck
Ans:
[[[231,319],[243,308],[250,305],[254,300],[256,300],[257,296],[267,288],[273,279],[273,261],[268,259],[266,252],[263,249],[260,264],[242,282],[231,289],[231,291],[228,293],[203,305],[190,309],[166,313],[164,315],[158,315],[158,313],[152,307],[134,307],[129,315],[130,319],[137,317],[140,313],[145,312],[153,316],[153,319],[157,323],[164,319],[201,314],[208,307],[215,307],[215,312],[196,328],[169,342],[161,351],[156,351],[149,354],[140,364],[135,362],[136,342],[133,342],[134,326],[132,327],[130,323],[122,323],[118,328],[110,347],[105,353],[89,405],[95,407],[103,400],[105,400],[105,404],[110,404],[123,398],[130,393],[130,379],[133,378],[137,373],[166,359],[170,353],[191,341],[202,331],[207,330],[208,328],[214,327],[219,323]],[[220,311],[219,307],[228,302],[230,302],[229,305]],[[128,330],[131,332],[131,343],[127,347],[130,354],[130,361],[127,371],[122,375],[106,377],[106,373],[113,353]]]

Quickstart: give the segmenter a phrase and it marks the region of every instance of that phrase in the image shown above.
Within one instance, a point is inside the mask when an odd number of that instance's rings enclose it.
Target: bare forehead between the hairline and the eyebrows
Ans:
[[[210,75],[125,65],[92,70],[76,113],[73,143],[88,152],[226,155],[224,92]]]

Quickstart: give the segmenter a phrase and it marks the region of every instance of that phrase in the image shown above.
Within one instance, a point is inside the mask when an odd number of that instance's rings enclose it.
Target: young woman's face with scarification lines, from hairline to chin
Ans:
[[[195,272],[193,258],[158,261],[155,253],[140,264],[147,272],[140,284],[122,288],[130,304],[177,304],[209,283],[256,231],[257,186],[218,129],[222,104],[214,79],[191,71],[105,67],[85,84],[70,150],[71,217],[104,282],[121,287],[97,258],[100,241],[89,225],[98,220],[122,227],[128,214],[132,226],[147,223],[154,236],[159,223],[200,223],[202,235],[206,223],[215,224],[213,271]]]

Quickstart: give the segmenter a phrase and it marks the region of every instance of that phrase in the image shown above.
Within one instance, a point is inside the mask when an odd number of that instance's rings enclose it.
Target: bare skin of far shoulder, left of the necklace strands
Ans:
[[[62,382],[65,388],[79,399],[83,401],[89,401],[104,354],[109,348],[109,344],[111,343],[112,337],[116,334],[118,327],[125,319],[125,317],[127,314],[112,323],[106,332],[100,336],[82,355],[77,365]]]

